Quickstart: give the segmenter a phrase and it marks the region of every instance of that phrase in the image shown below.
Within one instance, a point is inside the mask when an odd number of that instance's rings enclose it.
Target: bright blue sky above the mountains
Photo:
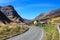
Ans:
[[[60,0],[0,0],[0,6],[12,5],[22,18],[34,19],[41,13],[60,8]]]

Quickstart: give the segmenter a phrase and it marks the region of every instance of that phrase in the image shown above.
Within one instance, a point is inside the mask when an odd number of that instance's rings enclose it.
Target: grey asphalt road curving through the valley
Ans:
[[[7,40],[43,40],[43,38],[44,30],[42,28],[29,26],[27,32]]]

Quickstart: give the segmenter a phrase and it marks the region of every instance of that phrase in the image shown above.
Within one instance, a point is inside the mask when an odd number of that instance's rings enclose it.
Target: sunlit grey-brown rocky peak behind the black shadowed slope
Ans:
[[[0,7],[0,11],[6,15],[11,21],[17,21],[18,22],[23,22],[23,19],[21,16],[18,15],[16,10],[12,5]]]

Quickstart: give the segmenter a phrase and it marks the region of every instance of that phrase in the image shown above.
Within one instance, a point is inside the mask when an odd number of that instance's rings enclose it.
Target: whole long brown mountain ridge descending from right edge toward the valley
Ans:
[[[41,13],[34,20],[43,20],[43,19],[54,18],[58,16],[60,17],[60,9],[52,10],[47,13]]]

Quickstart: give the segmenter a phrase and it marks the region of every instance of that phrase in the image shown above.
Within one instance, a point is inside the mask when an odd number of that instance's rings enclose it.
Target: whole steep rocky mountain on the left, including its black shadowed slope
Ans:
[[[12,5],[0,6],[0,20],[4,23],[6,22],[23,22],[23,18],[18,15],[16,10]]]

